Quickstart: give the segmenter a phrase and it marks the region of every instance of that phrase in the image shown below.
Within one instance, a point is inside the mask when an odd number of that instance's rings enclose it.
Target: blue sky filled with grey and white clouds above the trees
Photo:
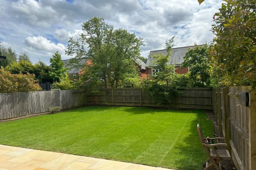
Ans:
[[[55,51],[62,59],[69,37],[77,39],[81,24],[104,17],[114,28],[142,37],[141,56],[164,49],[175,36],[174,48],[212,41],[212,16],[221,0],[0,0],[0,42],[32,62],[49,64]]]

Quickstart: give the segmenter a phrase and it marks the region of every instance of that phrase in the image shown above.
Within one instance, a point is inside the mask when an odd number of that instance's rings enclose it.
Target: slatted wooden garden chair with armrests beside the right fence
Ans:
[[[200,141],[202,143],[202,146],[207,154],[209,156],[209,159],[207,159],[204,164],[206,165],[204,170],[209,170],[212,167],[215,167],[216,170],[222,170],[221,168],[221,162],[224,160],[230,160],[230,153],[228,150],[218,150],[218,146],[227,146],[225,143],[217,143],[217,144],[209,144],[206,143],[206,138],[204,138],[200,125],[197,125],[198,135],[200,138]],[[214,141],[217,139],[224,139],[224,138],[210,138],[210,141]],[[210,149],[210,147],[212,149]],[[209,164],[211,162],[211,164]],[[203,164],[203,166],[204,166]],[[208,165],[209,164],[209,165]]]

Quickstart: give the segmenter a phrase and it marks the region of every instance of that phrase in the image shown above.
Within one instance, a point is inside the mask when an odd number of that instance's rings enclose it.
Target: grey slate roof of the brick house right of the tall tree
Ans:
[[[169,65],[180,65],[183,62],[183,57],[185,57],[185,54],[189,48],[195,48],[195,45],[187,46],[187,47],[172,48],[172,52],[169,57],[170,61],[168,64]],[[155,54],[159,54],[159,53],[166,55],[167,51],[166,51],[166,49],[150,51],[150,53],[148,55],[146,67],[152,67],[152,61],[154,61],[154,58],[152,56]]]

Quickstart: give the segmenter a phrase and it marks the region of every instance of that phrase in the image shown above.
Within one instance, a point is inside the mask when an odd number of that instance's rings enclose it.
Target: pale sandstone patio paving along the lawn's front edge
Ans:
[[[0,144],[0,170],[170,170]]]

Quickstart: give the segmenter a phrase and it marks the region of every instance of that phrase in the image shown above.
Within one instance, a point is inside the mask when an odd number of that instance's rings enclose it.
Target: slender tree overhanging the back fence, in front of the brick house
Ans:
[[[175,66],[169,65],[169,55],[172,51],[172,43],[174,37],[166,41],[167,54],[162,53],[154,55],[154,61],[152,62],[152,67],[158,69],[156,76],[151,76],[149,79],[143,80],[143,88],[150,94],[154,102],[158,104],[172,104],[175,96],[178,96],[182,92],[178,90],[180,88],[177,83],[178,81],[173,81],[177,78],[175,74]]]

